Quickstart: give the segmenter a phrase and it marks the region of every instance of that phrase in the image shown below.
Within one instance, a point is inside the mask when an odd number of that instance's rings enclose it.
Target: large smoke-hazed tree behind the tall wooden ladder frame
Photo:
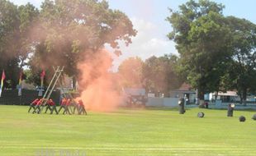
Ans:
[[[128,45],[136,34],[124,13],[97,0],[45,0],[35,30],[37,44],[31,66],[65,66],[64,72],[74,77],[78,76],[78,62],[90,59],[105,44],[120,54],[117,41]]]

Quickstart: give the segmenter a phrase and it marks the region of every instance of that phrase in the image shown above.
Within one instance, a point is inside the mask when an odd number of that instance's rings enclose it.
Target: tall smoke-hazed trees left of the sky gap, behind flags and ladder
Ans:
[[[112,10],[107,1],[45,0],[17,6],[0,0],[0,69],[6,71],[4,87],[15,89],[22,68],[27,81],[40,84],[40,72],[50,79],[53,66],[77,80],[79,62],[89,60],[109,44],[120,55],[117,41],[126,45],[136,30],[125,13]],[[95,69],[97,70],[97,69]],[[48,80],[49,81],[49,80]]]

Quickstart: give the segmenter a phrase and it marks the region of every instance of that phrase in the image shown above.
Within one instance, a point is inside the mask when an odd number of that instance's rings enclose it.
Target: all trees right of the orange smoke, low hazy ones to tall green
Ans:
[[[168,93],[184,81],[198,90],[198,99],[207,93],[217,96],[220,91],[236,90],[241,103],[246,103],[247,94],[256,91],[256,25],[224,16],[224,8],[208,0],[190,0],[178,11],[169,9],[167,21],[173,31],[168,38],[176,43],[178,56],[126,60],[119,69],[128,77],[125,84],[140,78],[140,85],[148,91]],[[130,75],[125,74],[128,62],[135,60],[141,66],[129,65]]]

